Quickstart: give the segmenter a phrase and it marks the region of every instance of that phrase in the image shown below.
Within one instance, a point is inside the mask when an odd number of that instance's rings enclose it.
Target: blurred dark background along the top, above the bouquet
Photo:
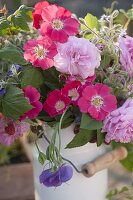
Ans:
[[[10,12],[14,11],[21,4],[33,6],[39,0],[0,0],[1,6],[6,4]],[[112,0],[49,0],[51,3],[57,3],[65,6],[79,17],[83,17],[90,12],[93,15],[100,16],[103,13],[103,7],[110,7]],[[129,9],[133,0],[118,0],[117,8]]]

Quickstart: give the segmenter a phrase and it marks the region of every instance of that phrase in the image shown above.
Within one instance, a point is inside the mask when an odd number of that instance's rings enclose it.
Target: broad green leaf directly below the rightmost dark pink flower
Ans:
[[[98,130],[101,129],[103,123],[92,119],[88,114],[83,113],[80,128],[87,130]]]

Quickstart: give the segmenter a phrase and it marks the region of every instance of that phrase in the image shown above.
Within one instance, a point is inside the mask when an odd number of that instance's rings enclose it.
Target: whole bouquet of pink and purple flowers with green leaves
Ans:
[[[126,32],[133,9],[78,19],[42,1],[1,13],[0,143],[35,133],[45,187],[69,181],[73,168],[81,173],[61,155],[61,131],[71,125],[66,149],[124,146],[128,156],[121,163],[133,171],[133,38]],[[47,143],[43,150],[38,139]]]

